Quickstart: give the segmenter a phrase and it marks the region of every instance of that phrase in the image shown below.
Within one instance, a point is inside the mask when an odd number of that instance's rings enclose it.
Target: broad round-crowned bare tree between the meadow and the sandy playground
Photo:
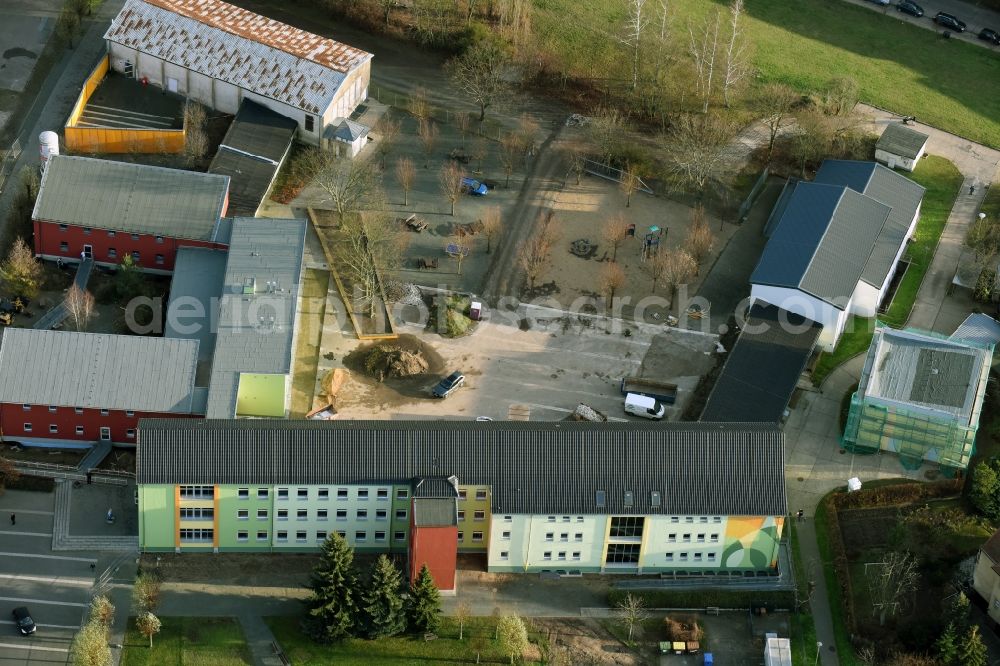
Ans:
[[[729,160],[726,149],[737,127],[715,113],[684,114],[674,120],[666,140],[667,177],[701,198],[711,180],[721,180]]]

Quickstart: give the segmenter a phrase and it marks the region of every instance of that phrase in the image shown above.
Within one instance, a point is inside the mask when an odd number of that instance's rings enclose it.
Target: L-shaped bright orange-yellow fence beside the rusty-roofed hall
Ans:
[[[108,56],[87,77],[64,128],[66,148],[83,153],[182,153],[184,129],[113,128],[81,126],[90,97],[108,74]],[[90,123],[88,123],[89,125]]]

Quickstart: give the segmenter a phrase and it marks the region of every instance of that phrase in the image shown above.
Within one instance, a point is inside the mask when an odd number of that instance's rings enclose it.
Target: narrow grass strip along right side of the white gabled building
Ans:
[[[955,197],[962,186],[962,174],[955,165],[935,155],[922,159],[917,170],[908,174],[908,177],[927,188],[927,192],[924,193],[924,201],[920,207],[920,220],[913,234],[914,240],[906,251],[910,267],[896,289],[889,310],[878,318],[893,328],[902,328],[910,318],[920,283],[930,268],[938,239],[941,238]],[[851,317],[836,349],[820,357],[813,370],[813,383],[819,386],[838,365],[865,353],[871,344],[873,330],[874,320]]]

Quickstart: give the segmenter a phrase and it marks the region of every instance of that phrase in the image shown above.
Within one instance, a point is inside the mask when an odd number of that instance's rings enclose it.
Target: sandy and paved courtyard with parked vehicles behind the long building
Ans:
[[[520,323],[526,313],[531,315],[527,325]],[[523,306],[494,313],[461,338],[444,338],[414,325],[399,332],[416,336],[440,355],[443,374],[465,374],[466,385],[445,400],[433,400],[429,394],[440,378],[437,374],[415,378],[417,382],[399,390],[352,373],[338,394],[342,418],[506,419],[510,406],[521,404],[530,409],[533,421],[558,421],[584,403],[611,420],[633,420],[624,414],[620,382],[642,373],[677,384],[677,402],[667,409],[667,418],[677,420],[698,380],[715,362],[715,336],[664,326],[626,326],[621,320],[559,310],[526,311]],[[356,339],[345,336],[329,351],[340,360],[357,347]]]

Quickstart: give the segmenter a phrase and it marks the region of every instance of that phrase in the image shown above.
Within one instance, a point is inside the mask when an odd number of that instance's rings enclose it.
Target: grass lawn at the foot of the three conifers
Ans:
[[[265,618],[271,631],[274,632],[278,644],[295,666],[367,666],[368,664],[385,664],[403,666],[405,664],[427,664],[432,662],[475,663],[476,653],[481,651],[485,663],[507,663],[509,659],[502,654],[493,640],[495,622],[487,617],[471,618],[465,623],[464,640],[458,640],[458,625],[452,618],[442,618],[438,638],[425,641],[412,636],[397,636],[381,638],[377,641],[366,641],[351,638],[337,645],[318,645],[302,634],[299,629],[299,617],[269,617]],[[530,629],[528,636],[533,643],[538,643],[539,637]],[[537,650],[536,650],[537,652]],[[536,658],[538,657],[536,653]],[[519,663],[539,663],[528,661]]]

